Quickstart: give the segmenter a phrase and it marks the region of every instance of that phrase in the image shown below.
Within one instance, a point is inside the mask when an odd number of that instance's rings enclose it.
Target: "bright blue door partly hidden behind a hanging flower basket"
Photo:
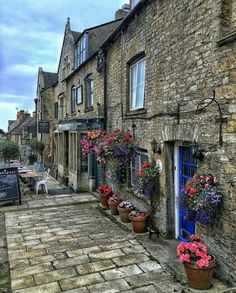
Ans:
[[[196,159],[193,158],[191,148],[179,147],[179,188],[185,185],[187,180],[195,174],[197,170]],[[179,239],[188,241],[188,237],[195,233],[195,224],[186,219],[186,212],[179,209]]]

